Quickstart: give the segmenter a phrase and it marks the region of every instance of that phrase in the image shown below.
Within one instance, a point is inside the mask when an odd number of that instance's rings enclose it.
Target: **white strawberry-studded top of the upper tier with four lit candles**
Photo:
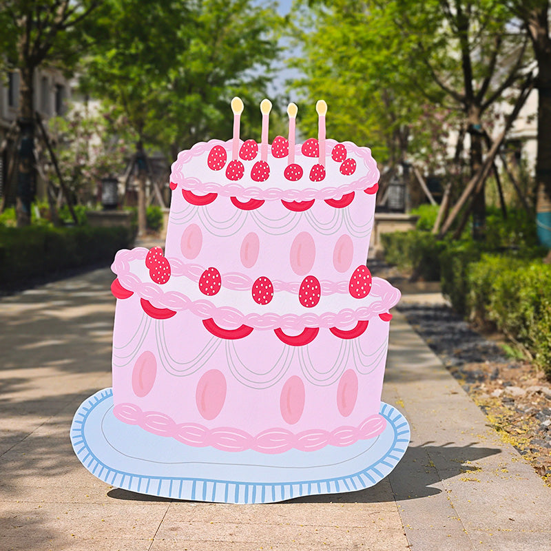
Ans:
[[[236,107],[241,106],[241,110]],[[318,138],[295,143],[297,107],[289,105],[289,135],[268,143],[269,110],[264,100],[262,140],[239,138],[242,103],[233,98],[233,138],[211,140],[180,152],[172,165],[170,185],[194,194],[220,194],[257,200],[341,198],[373,188],[379,180],[377,163],[368,147],[337,143],[325,137],[325,102],[318,101]]]

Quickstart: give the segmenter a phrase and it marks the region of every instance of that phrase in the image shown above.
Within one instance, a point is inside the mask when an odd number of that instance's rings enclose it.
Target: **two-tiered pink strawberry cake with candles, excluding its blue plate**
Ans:
[[[293,105],[293,104],[291,104]],[[283,453],[382,433],[389,310],[366,256],[370,149],[318,139],[198,143],[172,165],[165,253],[119,251],[114,415],[189,446]]]

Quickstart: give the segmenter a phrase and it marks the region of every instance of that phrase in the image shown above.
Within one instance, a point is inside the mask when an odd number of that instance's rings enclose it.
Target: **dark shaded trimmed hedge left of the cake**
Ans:
[[[111,262],[116,251],[132,246],[132,240],[132,232],[124,227],[0,227],[0,288]]]

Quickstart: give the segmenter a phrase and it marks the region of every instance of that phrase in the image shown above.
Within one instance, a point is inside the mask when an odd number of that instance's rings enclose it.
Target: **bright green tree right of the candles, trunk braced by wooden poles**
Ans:
[[[330,82],[337,101],[356,105],[347,106],[343,132],[379,130],[387,144],[415,150],[426,131],[420,114],[429,110],[441,118],[444,110],[459,115],[458,126],[470,134],[470,169],[477,173],[486,116],[521,79],[526,59],[526,40],[508,28],[510,10],[493,0],[311,3],[313,19],[302,39],[300,67],[309,77],[303,85],[310,93]],[[481,235],[484,187],[475,205],[474,227]]]

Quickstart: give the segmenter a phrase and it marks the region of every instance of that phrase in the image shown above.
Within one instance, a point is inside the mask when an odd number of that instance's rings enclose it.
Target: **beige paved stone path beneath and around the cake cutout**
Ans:
[[[397,312],[383,398],[412,441],[374,488],[236,506],[107,486],[74,456],[69,427],[111,386],[112,278],[103,269],[0,299],[1,550],[551,548],[551,489]]]

